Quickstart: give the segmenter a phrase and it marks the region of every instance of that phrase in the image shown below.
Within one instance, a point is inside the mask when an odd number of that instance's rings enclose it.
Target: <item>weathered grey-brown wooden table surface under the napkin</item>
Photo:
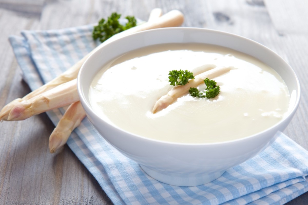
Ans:
[[[114,11],[147,20],[156,7],[164,13],[172,9],[183,12],[183,26],[248,37],[288,61],[301,82],[302,99],[284,133],[308,150],[305,0],[0,0],[0,107],[30,92],[7,41],[9,35],[95,23]],[[49,152],[53,129],[46,114],[0,124],[0,204],[111,204],[67,146],[58,154]],[[308,194],[287,204],[308,204]]]

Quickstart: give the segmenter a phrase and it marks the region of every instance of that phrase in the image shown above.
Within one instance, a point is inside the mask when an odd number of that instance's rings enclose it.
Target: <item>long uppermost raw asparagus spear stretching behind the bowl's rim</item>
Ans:
[[[43,92],[46,92],[58,85],[61,85],[65,82],[71,81],[75,79],[78,75],[79,69],[81,65],[84,63],[84,61],[93,53],[96,51],[96,49],[99,49],[101,46],[114,41],[116,39],[119,39],[121,37],[124,37],[128,34],[133,34],[139,31],[144,30],[150,30],[155,28],[163,28],[163,27],[174,27],[174,26],[180,26],[184,22],[184,16],[183,14],[178,10],[172,10],[168,13],[162,15],[161,17],[157,18],[156,21],[146,22],[143,24],[140,24],[138,26],[132,27],[128,30],[122,31],[121,33],[118,33],[114,36],[112,36],[107,41],[100,44],[98,47],[93,49],[90,53],[88,53],[85,57],[83,57],[80,61],[78,61],[75,65],[73,65],[71,68],[69,68],[67,71],[65,71],[63,74],[56,77],[54,80],[46,83],[45,85],[39,87],[38,89],[32,91],[28,95],[26,95],[23,98],[15,99],[14,101],[8,103],[6,106],[4,106],[0,112],[0,120],[8,120],[9,113],[11,112],[11,109],[15,107],[19,102],[29,100],[30,98],[37,96]]]

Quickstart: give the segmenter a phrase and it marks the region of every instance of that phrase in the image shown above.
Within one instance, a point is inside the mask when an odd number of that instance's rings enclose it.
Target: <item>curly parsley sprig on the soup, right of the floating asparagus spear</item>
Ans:
[[[204,79],[204,83],[206,85],[206,91],[202,92],[199,91],[197,88],[190,88],[189,93],[193,97],[199,97],[199,98],[213,98],[216,97],[220,92],[219,85],[216,85],[216,82],[214,80],[210,80],[209,78]]]

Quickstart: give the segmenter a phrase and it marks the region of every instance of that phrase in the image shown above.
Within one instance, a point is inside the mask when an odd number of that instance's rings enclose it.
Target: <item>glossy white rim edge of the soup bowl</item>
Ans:
[[[135,36],[135,35],[143,35],[143,34],[146,34],[146,33],[149,33],[149,32],[156,32],[157,30],[196,30],[196,31],[204,31],[204,32],[212,32],[212,33],[217,33],[217,34],[222,34],[222,35],[229,35],[229,36],[233,36],[233,37],[236,37],[236,38],[239,38],[243,41],[249,41],[251,43],[254,43],[256,44],[257,46],[260,46],[262,49],[265,49],[267,51],[269,51],[270,53],[272,53],[272,55],[274,55],[275,57],[277,57],[280,61],[282,61],[284,64],[287,65],[287,67],[289,67],[290,69],[290,72],[293,74],[293,77],[295,78],[296,80],[296,99],[294,101],[294,106],[288,110],[287,112],[287,115],[284,116],[282,118],[282,120],[280,120],[279,122],[277,122],[276,124],[272,125],[271,127],[261,131],[261,132],[257,132],[253,135],[249,135],[249,136],[246,136],[246,137],[241,137],[241,138],[238,138],[238,139],[234,139],[234,140],[226,140],[226,141],[222,141],[222,142],[210,142],[210,143],[181,143],[181,142],[171,142],[171,141],[164,141],[164,140],[156,140],[156,139],[152,139],[152,138],[149,138],[149,137],[145,137],[145,136],[141,136],[141,135],[138,135],[138,134],[135,134],[135,133],[132,133],[132,132],[128,132],[118,126],[116,126],[115,124],[111,124],[109,123],[108,121],[104,120],[103,118],[101,118],[99,115],[97,115],[93,109],[91,108],[91,104],[89,104],[87,102],[87,100],[85,99],[84,97],[84,94],[82,92],[82,83],[81,83],[81,78],[82,78],[82,73],[84,72],[85,70],[85,67],[87,66],[87,64],[89,63],[89,61],[92,60],[93,56],[95,55],[95,53],[97,52],[100,52],[100,50],[104,49],[106,46],[109,47],[109,46],[112,46],[112,44],[115,44],[117,43],[117,41],[125,41],[127,38],[129,39],[131,36]],[[112,38],[112,37],[111,37]],[[110,39],[111,39],[110,38]],[[133,34],[129,34],[127,36],[124,36],[124,37],[121,37],[119,39],[116,39],[115,41],[111,41],[111,42],[108,42],[105,41],[106,44],[102,45],[102,46],[98,46],[97,48],[95,48],[95,51],[93,53],[90,54],[90,56],[85,60],[85,62],[83,63],[83,65],[81,66],[79,72],[78,72],[78,76],[77,76],[77,91],[78,91],[78,95],[79,95],[79,98],[80,98],[80,101],[82,102],[82,106],[86,106],[87,109],[85,110],[89,110],[91,112],[92,115],[95,115],[97,116],[98,118],[100,118],[101,120],[103,120],[106,124],[108,124],[109,126],[117,129],[117,130],[120,130],[121,132],[124,132],[126,134],[129,134],[130,136],[133,136],[133,137],[137,137],[137,138],[141,138],[143,140],[148,140],[148,141],[152,141],[152,142],[156,142],[156,143],[164,143],[164,144],[172,144],[172,145],[184,145],[184,146],[209,146],[209,145],[220,145],[220,144],[229,144],[229,143],[236,143],[236,142],[240,142],[240,141],[244,141],[244,140],[249,140],[250,138],[255,138],[265,132],[268,132],[269,130],[275,128],[275,127],[278,127],[280,124],[284,123],[285,121],[287,120],[291,120],[292,117],[294,116],[298,106],[299,106],[299,102],[300,102],[300,99],[301,99],[301,87],[300,87],[300,82],[298,80],[298,77],[294,71],[294,69],[281,57],[279,56],[277,53],[275,53],[273,50],[271,50],[270,48],[266,47],[265,45],[262,45],[261,43],[257,42],[257,41],[254,41],[252,39],[249,39],[247,37],[243,37],[243,36],[240,36],[240,35],[237,35],[237,34],[233,34],[233,33],[229,33],[229,32],[225,32],[225,31],[220,31],[220,30],[214,30],[214,29],[208,29],[208,28],[196,28],[196,27],[167,27],[167,28],[156,28],[156,29],[151,29],[151,30],[145,30],[145,31],[140,31],[140,32],[137,32],[137,33],[133,33]],[[161,43],[161,44],[164,44],[164,43]],[[212,45],[215,45],[215,44],[212,44]],[[145,47],[145,46],[142,46],[142,47]],[[140,47],[140,48],[142,48]],[[134,49],[132,49],[134,50]],[[130,50],[130,51],[132,51]],[[233,49],[233,50],[236,50],[236,49]],[[129,51],[129,52],[130,52]],[[237,50],[238,51],[238,50]],[[241,52],[241,51],[239,51]],[[243,53],[243,52],[242,52]],[[120,54],[119,54],[120,55]],[[257,57],[255,57],[257,58]],[[258,58],[257,58],[258,59]],[[112,60],[112,59],[109,59],[109,60]],[[260,59],[258,59],[260,60]],[[261,60],[260,60],[261,61]],[[284,80],[284,79],[283,79]],[[289,88],[288,88],[289,89]],[[290,91],[290,90],[289,90]],[[291,95],[291,93],[290,93]],[[87,113],[87,111],[86,111]],[[88,114],[87,114],[88,115]],[[273,136],[274,137],[274,136]],[[106,139],[107,140],[107,139]],[[107,140],[108,141],[108,140]]]

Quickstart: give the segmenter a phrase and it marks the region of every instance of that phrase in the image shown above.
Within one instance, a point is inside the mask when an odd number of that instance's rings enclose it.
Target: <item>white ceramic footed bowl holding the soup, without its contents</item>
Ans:
[[[291,94],[290,111],[278,124],[238,140],[184,144],[148,139],[108,124],[91,108],[89,89],[95,74],[111,59],[141,47],[163,43],[207,43],[247,53],[275,69]],[[113,41],[93,53],[78,75],[80,101],[98,132],[122,154],[135,160],[154,179],[177,186],[197,186],[221,176],[227,169],[249,160],[269,146],[293,117],[300,100],[300,85],[292,68],[265,46],[216,30],[164,28],[144,31]]]

